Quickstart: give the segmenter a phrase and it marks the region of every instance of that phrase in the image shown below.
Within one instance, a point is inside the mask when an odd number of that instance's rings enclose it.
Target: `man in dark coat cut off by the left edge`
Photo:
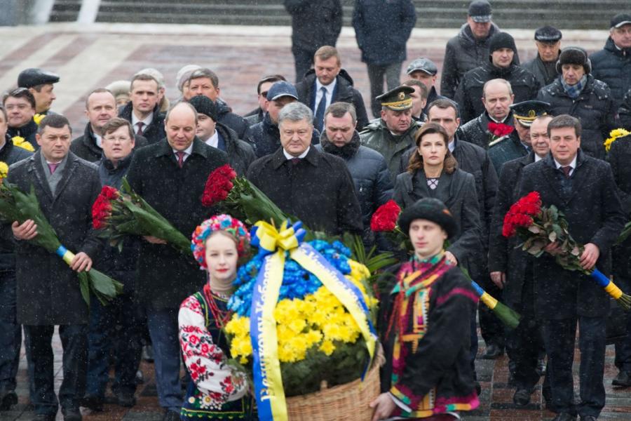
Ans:
[[[13,145],[6,134],[6,110],[0,107],[0,162],[10,166],[27,159],[32,152]],[[0,181],[1,183],[1,181]],[[0,410],[18,403],[15,377],[20,363],[22,326],[15,312],[15,241],[0,241]]]

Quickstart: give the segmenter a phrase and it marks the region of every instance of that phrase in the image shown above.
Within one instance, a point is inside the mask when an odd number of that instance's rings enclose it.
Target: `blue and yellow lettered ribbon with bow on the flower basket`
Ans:
[[[306,232],[301,222],[285,221],[280,229],[259,221],[252,228],[252,244],[266,255],[252,293],[250,333],[253,374],[259,419],[285,421],[287,406],[278,360],[278,338],[274,309],[283,283],[285,251],[334,294],[358,323],[372,359],[376,333],[361,291],[323,258],[317,250],[302,243]]]

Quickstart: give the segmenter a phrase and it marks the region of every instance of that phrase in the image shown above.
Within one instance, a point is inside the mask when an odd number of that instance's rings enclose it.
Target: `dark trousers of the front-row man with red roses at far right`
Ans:
[[[579,379],[581,403],[574,406],[574,339],[576,318],[543,321],[543,340],[548,352],[548,377],[555,410],[582,417],[598,417],[604,407],[603,385],[606,318],[578,316],[578,349],[581,351]]]

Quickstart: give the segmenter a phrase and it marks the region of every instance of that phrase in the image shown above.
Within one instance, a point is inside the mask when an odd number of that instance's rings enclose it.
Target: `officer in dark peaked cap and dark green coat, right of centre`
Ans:
[[[538,116],[548,114],[550,104],[543,101],[523,101],[510,106],[513,111],[515,130],[489,144],[489,158],[501,174],[502,166],[508,161],[527,155],[531,150],[530,125]]]

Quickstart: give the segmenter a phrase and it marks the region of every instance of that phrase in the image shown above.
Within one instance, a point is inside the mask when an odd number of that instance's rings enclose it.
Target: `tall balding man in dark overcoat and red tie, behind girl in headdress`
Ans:
[[[184,236],[215,213],[201,196],[208,175],[228,163],[225,152],[196,138],[197,112],[180,102],[165,118],[167,136],[135,152],[127,178],[130,186]],[[203,286],[204,273],[192,257],[161,239],[145,237],[140,246],[137,292],[147,312],[154,347],[156,385],[165,420],[179,420],[177,312],[182,300]]]

